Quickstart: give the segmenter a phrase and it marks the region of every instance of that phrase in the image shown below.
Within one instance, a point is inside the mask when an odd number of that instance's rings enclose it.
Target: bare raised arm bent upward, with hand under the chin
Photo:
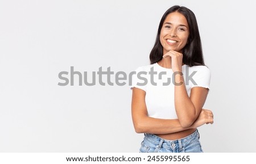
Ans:
[[[163,57],[169,56],[171,57],[172,71],[174,73],[181,73],[183,54],[171,50],[163,55]],[[175,82],[175,110],[181,127],[187,128],[190,127],[199,116],[205,100],[207,99],[208,89],[193,87],[189,97],[183,75],[176,74]]]

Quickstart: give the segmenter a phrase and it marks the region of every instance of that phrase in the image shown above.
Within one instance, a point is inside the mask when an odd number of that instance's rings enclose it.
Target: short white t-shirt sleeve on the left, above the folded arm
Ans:
[[[135,69],[135,74],[133,74],[131,77],[130,89],[132,90],[133,87],[137,87],[138,89],[142,89],[146,91],[146,84],[147,84],[147,72],[145,72],[141,66]]]

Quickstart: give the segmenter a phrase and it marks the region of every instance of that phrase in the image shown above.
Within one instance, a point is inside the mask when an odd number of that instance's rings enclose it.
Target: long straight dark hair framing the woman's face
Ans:
[[[188,41],[185,47],[183,48],[182,52],[183,63],[189,66],[204,65],[203,51],[196,16],[191,10],[183,6],[172,6],[162,16],[162,19],[160,20],[158,27],[158,34],[156,35],[155,45],[150,52],[151,64],[154,64],[155,62],[162,60],[163,46],[160,43],[160,32],[167,15],[175,11],[185,16],[189,28]]]

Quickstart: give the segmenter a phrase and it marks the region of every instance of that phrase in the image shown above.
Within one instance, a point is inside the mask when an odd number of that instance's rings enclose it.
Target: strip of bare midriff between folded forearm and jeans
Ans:
[[[170,134],[155,134],[156,136],[163,138],[165,140],[178,140],[180,138],[184,138],[195,132],[196,129],[187,129],[184,131],[170,133]]]

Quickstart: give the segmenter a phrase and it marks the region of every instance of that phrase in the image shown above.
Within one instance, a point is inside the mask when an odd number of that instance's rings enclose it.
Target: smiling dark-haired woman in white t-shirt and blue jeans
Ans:
[[[212,111],[202,109],[210,71],[191,10],[164,13],[150,61],[136,69],[131,86],[134,128],[144,133],[139,152],[203,152],[197,127],[213,123]]]

